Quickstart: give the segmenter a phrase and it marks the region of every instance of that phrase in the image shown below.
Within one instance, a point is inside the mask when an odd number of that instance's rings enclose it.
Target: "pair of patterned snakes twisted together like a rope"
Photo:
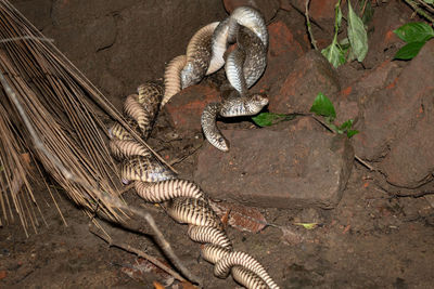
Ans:
[[[238,48],[225,62],[224,53],[228,43],[233,41]],[[247,91],[264,73],[267,41],[264,18],[247,6],[235,9],[220,23],[201,28],[190,40],[186,55],[175,57],[167,65],[164,88],[148,81],[139,86],[137,94],[126,97],[124,115],[127,123],[146,140],[159,108],[174,94],[225,66],[234,90],[221,103],[208,104],[201,122],[206,139],[217,148],[228,150],[229,144],[216,127],[216,118],[255,115],[268,104],[267,97]],[[215,264],[217,277],[226,278],[232,274],[234,280],[246,288],[279,288],[258,261],[233,249],[224,224],[196,184],[178,179],[119,123],[114,123],[108,134],[110,149],[122,161],[123,182],[135,182],[135,189],[141,198],[149,202],[164,202],[174,220],[189,224],[189,237],[204,244],[202,257]]]

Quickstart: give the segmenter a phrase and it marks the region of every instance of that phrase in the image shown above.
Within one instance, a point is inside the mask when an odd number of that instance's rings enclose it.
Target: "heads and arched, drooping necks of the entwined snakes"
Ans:
[[[225,64],[227,78],[234,91],[221,104],[207,104],[201,116],[205,139],[221,152],[229,152],[229,142],[217,128],[216,119],[219,116],[254,116],[268,104],[265,95],[248,93],[248,89],[260,78],[267,65],[268,31],[264,17],[255,9],[241,6],[227,21],[221,23],[227,30],[227,41],[235,37],[238,44],[229,53]],[[216,30],[215,39],[222,34]]]

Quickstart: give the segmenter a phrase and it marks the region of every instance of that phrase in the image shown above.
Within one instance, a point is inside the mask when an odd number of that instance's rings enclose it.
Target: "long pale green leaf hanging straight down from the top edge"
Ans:
[[[368,34],[363,22],[354,12],[350,1],[348,1],[348,39],[357,61],[362,62],[368,53]]]

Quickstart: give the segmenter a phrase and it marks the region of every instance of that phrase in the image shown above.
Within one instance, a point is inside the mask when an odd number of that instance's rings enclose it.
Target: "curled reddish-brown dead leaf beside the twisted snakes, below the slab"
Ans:
[[[219,218],[229,212],[228,224],[237,229],[258,233],[268,225],[263,213],[256,208],[227,201],[209,201],[209,205]]]

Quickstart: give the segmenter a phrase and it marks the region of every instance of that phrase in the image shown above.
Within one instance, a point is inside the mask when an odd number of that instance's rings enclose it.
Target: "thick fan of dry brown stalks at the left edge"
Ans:
[[[35,148],[16,105],[10,95],[2,93],[0,206],[3,221],[0,222],[13,220],[13,205],[26,234],[29,224],[36,229],[34,211],[38,206],[29,169],[22,157],[26,152],[40,161],[77,205],[87,211],[99,208],[105,218],[118,221],[119,211],[90,189],[98,187],[117,196],[116,186],[110,181],[116,175],[116,166],[99,130],[101,123],[94,117],[94,107],[88,102],[92,97],[104,101],[103,96],[7,1],[0,2],[0,69],[16,102],[41,137],[43,147],[84,182],[71,182],[40,148]]]

